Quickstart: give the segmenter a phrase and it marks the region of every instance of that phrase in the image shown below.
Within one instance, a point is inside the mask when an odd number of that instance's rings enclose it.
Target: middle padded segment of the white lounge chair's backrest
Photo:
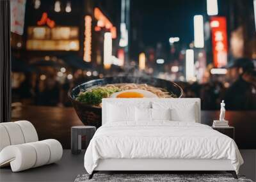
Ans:
[[[24,135],[20,126],[17,123],[8,122],[1,123],[0,125],[4,126],[8,136],[10,137],[11,145],[24,144]]]

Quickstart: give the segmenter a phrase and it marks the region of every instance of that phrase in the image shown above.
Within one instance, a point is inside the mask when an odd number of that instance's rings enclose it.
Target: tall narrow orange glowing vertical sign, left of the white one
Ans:
[[[91,62],[92,55],[92,17],[84,17],[84,61]]]

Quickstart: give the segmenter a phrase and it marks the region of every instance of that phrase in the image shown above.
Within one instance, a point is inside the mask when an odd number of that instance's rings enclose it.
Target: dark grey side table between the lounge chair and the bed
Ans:
[[[85,141],[85,147],[87,149],[90,140],[92,139],[96,131],[95,126],[72,126],[71,127],[71,153],[79,154],[82,149],[82,142]]]

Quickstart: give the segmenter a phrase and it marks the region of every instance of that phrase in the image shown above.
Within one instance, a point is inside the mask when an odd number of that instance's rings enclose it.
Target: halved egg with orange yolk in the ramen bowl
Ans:
[[[158,98],[158,96],[143,89],[129,89],[113,93],[110,98]]]

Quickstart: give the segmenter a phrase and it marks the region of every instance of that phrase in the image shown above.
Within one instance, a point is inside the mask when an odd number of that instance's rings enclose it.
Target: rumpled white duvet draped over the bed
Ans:
[[[101,126],[84,155],[86,171],[92,174],[99,159],[106,158],[229,159],[237,173],[243,164],[230,137],[207,125],[177,121]]]

